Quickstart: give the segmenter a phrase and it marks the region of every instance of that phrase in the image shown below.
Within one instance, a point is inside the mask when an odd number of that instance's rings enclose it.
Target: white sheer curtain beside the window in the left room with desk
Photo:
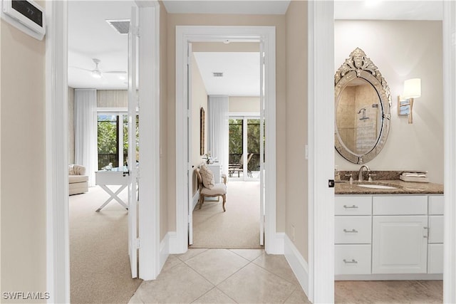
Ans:
[[[75,163],[86,167],[88,186],[95,186],[97,162],[97,91],[74,90]]]

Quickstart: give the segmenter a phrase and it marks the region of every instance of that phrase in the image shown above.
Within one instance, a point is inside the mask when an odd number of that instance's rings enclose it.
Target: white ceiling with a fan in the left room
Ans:
[[[93,78],[93,58],[100,70],[128,69],[128,35],[105,20],[130,19],[133,1],[68,1],[68,85],[72,88],[127,88],[125,74]],[[87,70],[81,70],[81,68]]]

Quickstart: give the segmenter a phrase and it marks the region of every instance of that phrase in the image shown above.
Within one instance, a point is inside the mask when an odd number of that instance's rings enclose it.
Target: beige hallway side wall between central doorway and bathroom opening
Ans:
[[[286,13],[286,230],[308,261],[307,4],[291,1]]]

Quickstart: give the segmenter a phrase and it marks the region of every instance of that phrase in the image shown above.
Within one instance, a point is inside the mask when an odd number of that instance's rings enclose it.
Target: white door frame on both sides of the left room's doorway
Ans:
[[[156,0],[135,1],[147,20],[142,33],[148,37],[140,44],[140,58],[147,64],[142,78],[151,85],[142,85],[140,100],[153,130],[141,142],[143,152],[140,187],[142,210],[140,220],[140,278],[157,277],[160,268],[160,4]],[[48,303],[70,303],[70,248],[68,215],[68,2],[46,2],[46,290]],[[146,19],[146,18],[142,18]],[[152,51],[150,51],[152,49]],[[142,53],[141,53],[142,50]],[[147,59],[147,61],[146,61]],[[140,59],[141,60],[141,59]],[[150,110],[153,109],[153,110]],[[141,109],[140,109],[141,111]],[[151,114],[152,113],[152,114]],[[158,167],[159,168],[159,167]],[[156,190],[156,192],[155,192]]]

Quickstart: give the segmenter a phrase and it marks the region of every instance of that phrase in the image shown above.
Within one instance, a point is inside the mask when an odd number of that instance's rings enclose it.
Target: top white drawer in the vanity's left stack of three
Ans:
[[[372,196],[336,196],[334,214],[371,215]]]

